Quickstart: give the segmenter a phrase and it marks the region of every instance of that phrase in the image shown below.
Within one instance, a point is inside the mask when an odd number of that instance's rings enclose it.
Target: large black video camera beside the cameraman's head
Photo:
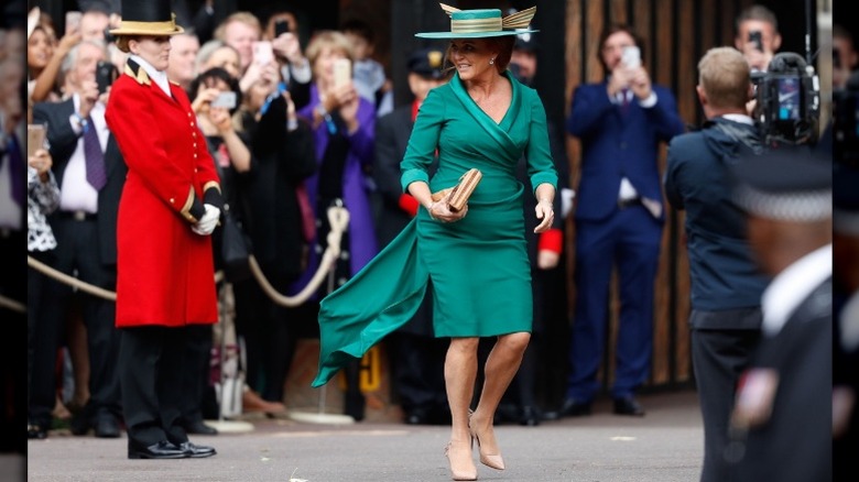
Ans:
[[[754,121],[769,147],[817,142],[820,86],[814,67],[798,54],[775,54],[765,73],[752,73]]]

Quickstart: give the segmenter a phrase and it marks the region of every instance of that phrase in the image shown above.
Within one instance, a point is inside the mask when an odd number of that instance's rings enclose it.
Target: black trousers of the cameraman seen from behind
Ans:
[[[737,382],[749,365],[760,330],[693,329],[692,361],[704,419],[702,482],[726,482],[728,426]]]

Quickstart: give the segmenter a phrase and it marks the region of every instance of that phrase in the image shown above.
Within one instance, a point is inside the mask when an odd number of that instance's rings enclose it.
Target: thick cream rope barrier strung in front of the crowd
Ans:
[[[328,248],[326,248],[325,252],[323,253],[316,273],[314,273],[313,277],[307,283],[307,286],[305,286],[298,294],[294,296],[285,296],[282,295],[281,293],[278,293],[278,291],[274,289],[271,283],[269,283],[269,280],[265,277],[265,274],[262,272],[260,264],[257,262],[257,258],[253,254],[251,254],[248,258],[248,263],[250,264],[250,269],[251,269],[251,273],[253,273],[253,277],[257,280],[257,283],[260,284],[262,291],[265,292],[265,294],[269,295],[269,297],[274,303],[286,307],[293,307],[293,306],[298,306],[302,303],[306,302],[307,298],[309,298],[311,295],[313,295],[313,293],[316,292],[316,289],[322,284],[323,280],[325,280],[325,276],[330,271],[334,263],[337,261],[337,258],[340,255],[340,242],[342,239],[342,233],[344,231],[346,231],[346,229],[349,226],[349,211],[342,206],[331,206],[328,208],[327,215],[328,215],[328,222],[331,227],[331,230],[330,232],[328,232],[328,237],[326,238],[326,241],[328,242]],[[30,255],[26,256],[26,264],[28,266],[36,271],[40,271],[43,274],[53,277],[54,280],[61,283],[65,283],[72,287],[78,288],[81,292],[105,299],[109,299],[112,302],[117,300],[116,292],[111,292],[109,289],[105,289],[102,287],[83,282],[74,276],[67,275],[61,271],[57,271],[46,265],[45,263],[36,260],[33,256]],[[215,273],[215,283],[218,283],[221,280],[224,280],[224,272],[219,271]],[[26,313],[26,306],[13,299],[6,298],[3,296],[0,296],[0,308],[9,308],[15,311]]]

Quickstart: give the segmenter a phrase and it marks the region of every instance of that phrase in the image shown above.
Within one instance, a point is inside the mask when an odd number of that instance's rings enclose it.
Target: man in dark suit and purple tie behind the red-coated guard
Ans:
[[[59,180],[59,209],[48,219],[57,240],[53,267],[101,288],[116,289],[117,209],[127,167],[105,122],[107,92],[99,92],[96,65],[107,61],[104,44],[84,41],[64,61],[73,96],[63,102],[37,103],[33,121],[47,124],[47,139]],[[54,363],[67,317],[72,289],[58,282],[46,286],[51,299],[39,324],[44,333],[34,347],[30,416],[48,427],[55,402]],[[119,437],[119,337],[113,328],[116,304],[80,295],[90,364],[90,398],[76,415],[76,435],[95,429],[97,437]],[[43,425],[44,424],[44,425]]]

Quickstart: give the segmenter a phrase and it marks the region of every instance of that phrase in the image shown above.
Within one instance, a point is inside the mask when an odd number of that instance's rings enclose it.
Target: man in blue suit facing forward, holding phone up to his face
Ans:
[[[620,324],[611,396],[615,413],[644,415],[633,397],[650,372],[653,283],[664,209],[660,141],[683,132],[674,96],[653,86],[632,30],[602,33],[599,58],[608,77],[573,96],[567,132],[581,141],[576,207],[576,310],[570,372],[562,412],[586,415],[599,388],[611,271],[620,281]]]

